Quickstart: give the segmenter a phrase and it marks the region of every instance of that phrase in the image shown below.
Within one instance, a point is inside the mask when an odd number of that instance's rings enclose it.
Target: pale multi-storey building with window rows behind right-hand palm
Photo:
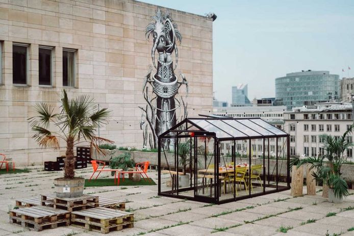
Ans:
[[[284,130],[290,134],[290,154],[314,156],[323,154],[321,135],[340,137],[353,123],[350,103],[323,102],[314,106],[295,107],[284,113]],[[351,142],[353,134],[348,136]],[[352,148],[346,151],[353,158]]]

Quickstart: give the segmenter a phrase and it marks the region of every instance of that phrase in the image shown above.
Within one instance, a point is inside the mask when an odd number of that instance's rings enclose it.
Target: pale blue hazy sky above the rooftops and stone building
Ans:
[[[217,15],[213,90],[218,100],[231,103],[231,87],[240,83],[248,84],[250,100],[274,97],[276,77],[310,69],[329,70],[342,78],[348,77],[348,66],[353,65],[351,1],[142,2]],[[353,76],[350,72],[349,77]]]

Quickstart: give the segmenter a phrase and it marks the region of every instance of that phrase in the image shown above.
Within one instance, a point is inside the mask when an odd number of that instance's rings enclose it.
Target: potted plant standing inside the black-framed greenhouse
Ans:
[[[193,165],[194,163],[193,158],[190,158],[191,146],[192,148],[194,146],[194,142],[192,141],[192,139],[188,139],[186,142],[179,142],[178,144],[179,165],[182,166],[183,172],[183,174],[179,176],[179,185],[181,187],[189,185],[190,176],[186,174],[187,166]],[[204,157],[205,148],[203,145],[198,146],[196,148],[196,151],[197,155],[203,155]]]

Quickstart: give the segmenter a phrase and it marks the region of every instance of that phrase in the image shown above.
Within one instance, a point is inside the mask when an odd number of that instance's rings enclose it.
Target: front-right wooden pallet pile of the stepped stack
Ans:
[[[105,207],[71,213],[71,225],[102,233],[134,227],[134,214]]]

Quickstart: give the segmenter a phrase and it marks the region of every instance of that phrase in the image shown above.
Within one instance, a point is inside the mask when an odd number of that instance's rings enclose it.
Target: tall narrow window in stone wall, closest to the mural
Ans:
[[[75,50],[63,49],[63,86],[75,86]]]

